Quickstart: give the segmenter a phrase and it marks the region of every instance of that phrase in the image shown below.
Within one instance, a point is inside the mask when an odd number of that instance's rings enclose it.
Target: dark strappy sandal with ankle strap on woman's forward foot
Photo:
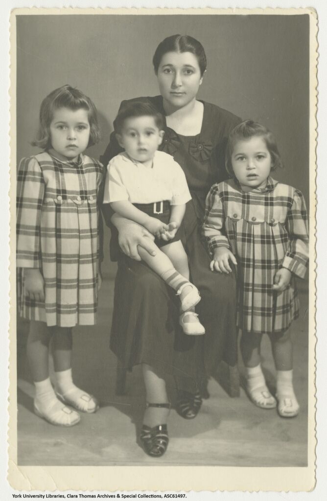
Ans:
[[[146,408],[148,407],[165,407],[166,409],[170,409],[171,404],[146,403]],[[140,434],[140,440],[143,449],[149,456],[162,456],[163,454],[165,454],[169,442],[167,424],[158,424],[157,426],[153,426],[152,428],[146,426],[146,424],[143,424]]]

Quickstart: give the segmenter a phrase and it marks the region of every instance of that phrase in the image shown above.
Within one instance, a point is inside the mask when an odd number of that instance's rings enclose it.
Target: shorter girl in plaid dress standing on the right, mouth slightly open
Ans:
[[[270,177],[281,166],[275,139],[262,125],[247,120],[231,132],[226,167],[232,179],[212,186],[203,226],[212,256],[210,268],[231,273],[238,267],[237,326],[246,390],[258,407],[276,407],[296,416],[289,326],[298,317],[294,277],[304,278],[308,231],[303,195]],[[262,335],[268,334],[277,371],[276,399],[260,365]]]

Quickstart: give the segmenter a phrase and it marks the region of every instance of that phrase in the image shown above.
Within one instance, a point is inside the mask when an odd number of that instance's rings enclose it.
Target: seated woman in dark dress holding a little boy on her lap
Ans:
[[[235,274],[212,274],[210,257],[201,241],[201,225],[211,185],[228,177],[225,145],[230,130],[241,120],[197,100],[206,65],[200,42],[189,36],[168,37],[153,56],[161,95],[124,101],[120,106],[121,110],[131,101],[143,101],[166,117],[159,149],[181,165],[192,196],[186,204],[180,237],[192,282],[202,298],[196,311],[205,327],[204,336],[187,336],[181,331],[174,291],[140,262],[138,246],[150,254],[155,252],[153,235],[133,221],[112,215],[109,204],[104,205],[106,222],[114,225],[111,259],[118,260],[110,347],[124,367],[142,364],[147,408],[141,438],[145,451],[153,456],[162,455],[168,445],[166,376],[174,375],[176,380],[177,411],[192,419],[201,407],[199,388],[207,375],[221,360],[230,367],[237,361]],[[112,134],[101,159],[104,165],[120,151]]]

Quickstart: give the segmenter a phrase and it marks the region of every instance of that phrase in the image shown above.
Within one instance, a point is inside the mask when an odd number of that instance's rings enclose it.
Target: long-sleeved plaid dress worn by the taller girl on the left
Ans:
[[[102,164],[84,155],[78,162],[62,162],[43,152],[21,161],[17,268],[22,317],[49,327],[95,324],[102,177]],[[25,268],[40,269],[45,303],[25,296]]]

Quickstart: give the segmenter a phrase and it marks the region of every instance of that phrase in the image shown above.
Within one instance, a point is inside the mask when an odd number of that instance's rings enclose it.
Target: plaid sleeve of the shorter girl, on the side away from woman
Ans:
[[[289,235],[289,245],[282,267],[297,277],[304,278],[309,259],[309,237],[305,201],[298,190],[295,190],[285,225]]]

